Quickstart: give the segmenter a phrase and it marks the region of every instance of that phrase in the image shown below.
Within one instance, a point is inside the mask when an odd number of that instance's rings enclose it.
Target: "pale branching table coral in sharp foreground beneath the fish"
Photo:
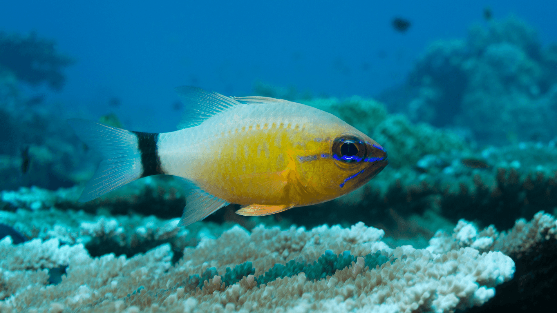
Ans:
[[[114,232],[117,227],[110,221],[99,220],[82,229]],[[160,229],[174,233],[173,226],[169,221]],[[393,250],[379,241],[382,236],[383,231],[363,223],[310,231],[258,226],[248,232],[234,226],[216,239],[185,248],[183,260],[174,266],[169,244],[131,258],[90,258],[81,244],[60,247],[56,239],[19,246],[3,241],[0,253],[8,257],[0,263],[1,277],[7,277],[0,280],[5,286],[0,312],[83,307],[91,312],[449,312],[482,305],[495,295],[494,286],[514,273],[514,263],[501,252],[480,253],[471,247],[442,253],[412,246]],[[256,281],[276,263],[312,263],[325,250],[360,257],[321,280],[299,272],[266,284]],[[363,256],[378,250],[392,262],[365,266]],[[202,288],[188,280],[210,267],[222,275],[226,267],[246,261],[256,268],[255,275],[232,285],[214,274],[200,282]],[[45,285],[45,268],[57,265],[69,266],[67,277],[58,285]],[[26,281],[16,283],[11,277]]]

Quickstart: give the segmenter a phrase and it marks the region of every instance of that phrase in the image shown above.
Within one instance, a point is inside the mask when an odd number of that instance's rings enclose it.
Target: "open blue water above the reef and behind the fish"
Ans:
[[[472,23],[516,14],[557,41],[553,1],[3,1],[0,30],[58,43],[77,61],[46,103],[97,119],[114,111],[126,128],[172,131],[173,89],[196,85],[252,95],[261,81],[314,96],[374,96],[405,81],[429,43],[463,38]],[[396,32],[391,21],[412,25]],[[119,107],[110,99],[118,97]]]

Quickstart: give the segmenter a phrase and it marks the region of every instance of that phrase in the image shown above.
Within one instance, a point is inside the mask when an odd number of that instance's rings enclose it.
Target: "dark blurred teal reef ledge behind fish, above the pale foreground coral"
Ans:
[[[557,165],[551,163],[555,154],[554,147],[529,144],[466,154],[481,158],[488,168],[470,168],[462,164],[459,154],[426,155],[415,167],[385,169],[345,197],[266,218],[271,223],[281,221],[283,227],[294,223],[307,228],[324,223],[346,227],[362,221],[384,229],[389,237],[422,238],[423,244],[413,244],[425,247],[438,228],[452,229],[460,218],[506,229],[517,218],[530,219],[540,210],[553,212],[557,207]],[[180,217],[185,204],[184,185],[164,176],[140,179],[87,203],[76,202],[80,192],[81,187],[3,191],[0,207],[12,212],[55,207],[97,216],[154,214],[168,219]],[[237,216],[236,209],[228,206],[206,221],[239,223],[247,229],[261,221]]]

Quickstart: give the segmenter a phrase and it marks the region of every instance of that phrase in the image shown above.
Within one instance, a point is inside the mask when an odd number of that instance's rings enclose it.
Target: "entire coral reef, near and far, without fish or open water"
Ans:
[[[519,17],[434,41],[375,97],[256,81],[368,134],[389,166],[330,202],[261,218],[232,204],[185,228],[172,177],[77,202],[100,157],[66,118],[87,113],[29,87],[62,89],[74,62],[0,33],[0,312],[514,312],[557,296],[557,43]],[[119,106],[101,123],[126,126]]]

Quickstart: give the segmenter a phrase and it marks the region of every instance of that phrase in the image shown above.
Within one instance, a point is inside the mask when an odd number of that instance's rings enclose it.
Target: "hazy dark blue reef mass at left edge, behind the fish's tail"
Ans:
[[[71,58],[57,51],[54,41],[35,33],[0,32],[0,190],[70,187],[94,172],[95,152],[86,151],[63,114],[38,107],[43,97],[26,99],[18,87],[19,82],[47,82],[61,89],[62,69],[71,63]]]

